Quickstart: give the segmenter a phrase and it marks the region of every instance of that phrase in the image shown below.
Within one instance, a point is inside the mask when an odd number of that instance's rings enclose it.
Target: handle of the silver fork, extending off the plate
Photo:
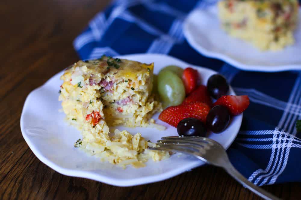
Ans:
[[[278,197],[272,195],[271,193],[268,193],[267,191],[263,190],[262,188],[254,185],[250,181],[248,181],[243,175],[241,175],[232,164],[228,164],[227,166],[223,167],[228,174],[230,174],[236,181],[243,184],[245,187],[247,187],[249,190],[251,190],[253,193],[257,194],[258,196],[262,197],[263,199],[272,199],[272,200],[280,200]]]

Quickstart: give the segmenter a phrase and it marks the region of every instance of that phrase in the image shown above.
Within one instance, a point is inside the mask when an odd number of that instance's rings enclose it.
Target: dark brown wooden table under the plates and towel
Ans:
[[[154,184],[114,187],[61,175],[41,163],[24,141],[20,114],[26,96],[79,58],[72,41],[108,0],[0,3],[1,199],[259,199],[222,169],[199,167]],[[264,186],[282,199],[300,199],[301,184]]]

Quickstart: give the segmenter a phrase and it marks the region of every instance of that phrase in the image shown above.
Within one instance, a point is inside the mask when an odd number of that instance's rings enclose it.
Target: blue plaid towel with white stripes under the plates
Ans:
[[[196,52],[183,35],[183,20],[215,0],[120,0],[98,13],[74,40],[82,59],[103,54],[162,53],[223,74],[237,95],[247,94],[241,130],[228,149],[231,162],[256,185],[301,181],[301,71],[241,71]]]

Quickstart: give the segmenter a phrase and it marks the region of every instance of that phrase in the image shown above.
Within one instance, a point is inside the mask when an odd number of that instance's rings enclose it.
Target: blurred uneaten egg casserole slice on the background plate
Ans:
[[[222,27],[260,50],[281,50],[294,43],[298,0],[225,0],[218,3]]]

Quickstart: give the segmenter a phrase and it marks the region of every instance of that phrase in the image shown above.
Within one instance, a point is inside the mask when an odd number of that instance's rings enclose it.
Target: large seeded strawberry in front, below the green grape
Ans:
[[[177,127],[182,119],[189,117],[197,118],[206,123],[209,110],[210,107],[202,102],[181,104],[179,106],[170,106],[163,110],[159,115],[159,119],[174,127]]]

